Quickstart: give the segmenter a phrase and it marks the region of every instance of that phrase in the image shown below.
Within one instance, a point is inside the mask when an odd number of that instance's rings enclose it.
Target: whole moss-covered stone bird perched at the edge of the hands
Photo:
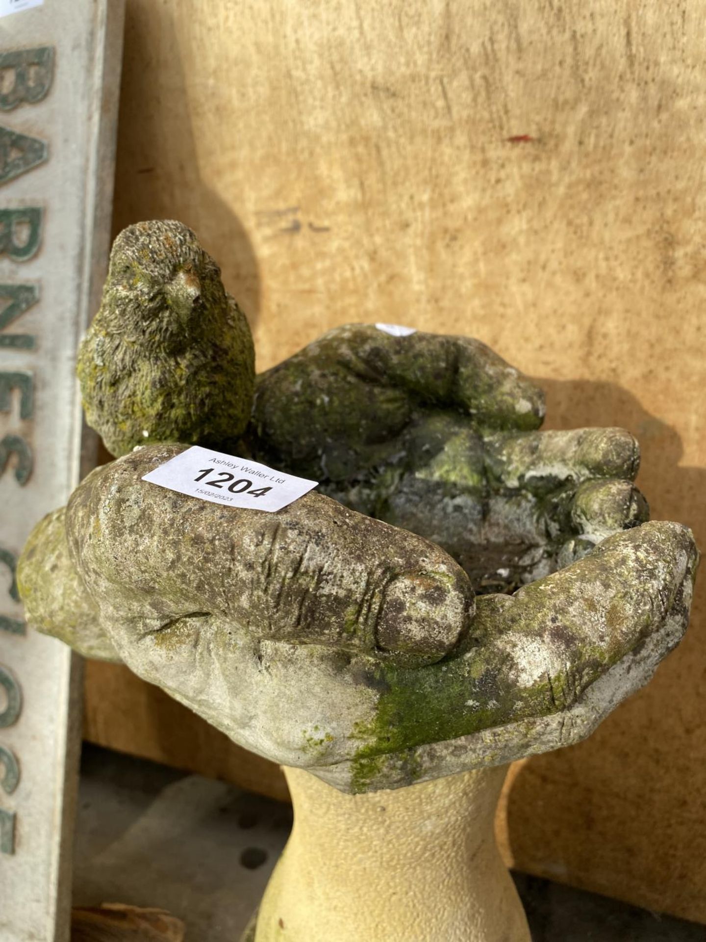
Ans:
[[[248,321],[184,223],[118,235],[77,365],[88,425],[113,455],[153,442],[229,450],[248,424],[254,360]]]

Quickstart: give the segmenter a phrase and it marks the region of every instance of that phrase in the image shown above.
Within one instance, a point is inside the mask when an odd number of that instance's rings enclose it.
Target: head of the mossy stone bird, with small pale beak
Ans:
[[[105,286],[121,329],[163,340],[207,329],[226,303],[220,268],[196,235],[172,219],[123,229],[113,243]]]

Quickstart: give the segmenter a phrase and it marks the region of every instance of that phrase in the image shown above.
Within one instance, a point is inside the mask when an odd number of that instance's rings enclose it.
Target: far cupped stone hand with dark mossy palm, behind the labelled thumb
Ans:
[[[512,591],[648,517],[621,429],[540,432],[538,386],[469,337],[337,328],[259,377],[251,446]]]

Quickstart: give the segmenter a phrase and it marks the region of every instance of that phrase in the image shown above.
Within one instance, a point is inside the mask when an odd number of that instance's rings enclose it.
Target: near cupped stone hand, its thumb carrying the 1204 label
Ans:
[[[326,496],[268,514],[142,480],[179,450],[96,469],[40,524],[19,567],[27,617],[72,642],[86,612],[136,674],[342,790],[581,739],[686,625],[697,554],[680,525],[618,533],[473,611],[440,547]]]

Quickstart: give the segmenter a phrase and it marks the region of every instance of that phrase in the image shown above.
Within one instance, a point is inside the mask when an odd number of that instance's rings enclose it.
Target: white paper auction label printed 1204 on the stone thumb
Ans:
[[[214,504],[268,513],[281,511],[318,484],[200,445],[160,464],[142,480]]]

